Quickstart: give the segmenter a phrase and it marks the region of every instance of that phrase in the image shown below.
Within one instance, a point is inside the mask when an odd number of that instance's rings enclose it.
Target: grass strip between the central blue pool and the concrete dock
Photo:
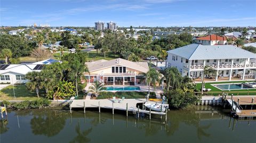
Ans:
[[[138,98],[146,98],[146,95],[148,92],[138,92],[138,91],[127,91],[127,92],[100,92],[100,95],[97,99],[109,99],[113,98],[115,96],[116,98],[122,98],[125,99],[138,99]],[[155,92],[150,92],[149,98],[156,98]]]

